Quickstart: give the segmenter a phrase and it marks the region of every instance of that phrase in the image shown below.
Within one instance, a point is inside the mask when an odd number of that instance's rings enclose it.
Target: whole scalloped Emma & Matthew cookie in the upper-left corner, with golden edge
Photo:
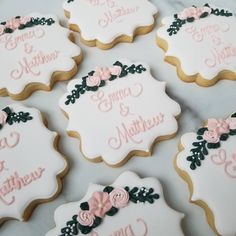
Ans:
[[[22,100],[73,77],[81,50],[71,40],[54,15],[33,13],[0,22],[0,96]]]

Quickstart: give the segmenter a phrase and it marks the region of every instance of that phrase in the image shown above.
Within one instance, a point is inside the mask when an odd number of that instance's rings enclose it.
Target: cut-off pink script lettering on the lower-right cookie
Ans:
[[[228,177],[236,179],[236,152],[228,155],[226,150],[221,148],[216,154],[211,155],[210,159],[215,165],[222,166]]]

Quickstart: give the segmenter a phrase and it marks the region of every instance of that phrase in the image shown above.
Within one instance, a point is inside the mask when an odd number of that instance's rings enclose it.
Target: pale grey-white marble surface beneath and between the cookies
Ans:
[[[54,201],[39,205],[28,222],[9,221],[0,228],[1,236],[42,236],[54,227],[54,210],[63,203],[75,201],[83,197],[89,182],[109,184],[124,170],[132,170],[142,177],[157,177],[163,184],[166,199],[174,209],[185,213],[183,230],[188,236],[214,235],[208,226],[204,211],[188,202],[189,191],[186,183],[176,174],[173,168],[173,159],[177,153],[180,136],[188,131],[196,130],[208,117],[225,117],[236,110],[235,90],[236,82],[221,81],[210,88],[202,88],[195,84],[187,84],[177,78],[175,68],[163,61],[164,53],[155,44],[156,30],[160,19],[169,14],[180,11],[191,4],[204,4],[205,0],[169,0],[156,3],[160,10],[157,24],[153,32],[136,38],[133,44],[119,44],[109,51],[88,48],[81,45],[84,53],[79,75],[87,74],[101,62],[110,65],[117,58],[149,63],[152,74],[159,80],[166,81],[167,92],[175,98],[182,107],[179,119],[179,132],[176,138],[157,144],[152,157],[133,158],[122,168],[112,169],[101,164],[86,161],[79,151],[79,141],[67,136],[65,130],[67,120],[59,110],[58,99],[66,90],[66,83],[58,83],[52,92],[36,92],[23,101],[25,105],[35,106],[45,113],[49,127],[61,134],[61,150],[68,157],[71,168],[64,178],[62,193]],[[1,0],[0,18],[5,20],[15,15],[24,15],[31,11],[42,13],[56,13],[66,25],[63,16],[63,0]],[[236,12],[235,0],[209,1],[214,5],[229,7]],[[4,65],[1,65],[1,67]],[[0,98],[0,107],[12,103],[9,98]],[[223,200],[223,199],[222,199]]]

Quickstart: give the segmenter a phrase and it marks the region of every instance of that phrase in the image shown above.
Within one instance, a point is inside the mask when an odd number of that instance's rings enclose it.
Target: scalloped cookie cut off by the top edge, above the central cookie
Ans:
[[[63,8],[81,41],[101,49],[150,32],[157,14],[149,0],[66,0]]]

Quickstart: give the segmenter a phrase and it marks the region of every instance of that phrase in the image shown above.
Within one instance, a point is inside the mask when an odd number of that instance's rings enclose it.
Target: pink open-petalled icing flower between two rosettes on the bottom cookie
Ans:
[[[103,218],[106,212],[112,208],[109,194],[104,192],[93,193],[92,198],[88,200],[88,204],[89,211],[100,218]]]

